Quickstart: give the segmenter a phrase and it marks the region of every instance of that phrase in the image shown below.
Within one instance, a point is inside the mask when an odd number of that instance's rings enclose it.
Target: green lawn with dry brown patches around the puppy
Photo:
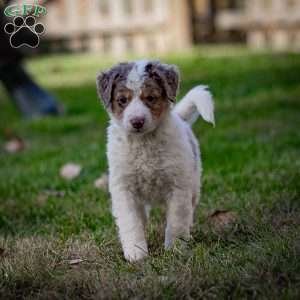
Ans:
[[[107,168],[108,120],[95,74],[113,61],[31,60],[67,113],[25,121],[0,91],[0,145],[7,128],[26,143],[20,153],[0,150],[1,299],[300,297],[300,56],[204,48],[162,59],[179,65],[181,96],[203,83],[216,101],[216,128],[194,126],[204,174],[188,247],[164,251],[158,209],[150,257],[125,262],[109,197],[93,186]],[[67,182],[59,169],[70,161],[83,171]],[[209,215],[220,209],[236,221],[215,230]]]

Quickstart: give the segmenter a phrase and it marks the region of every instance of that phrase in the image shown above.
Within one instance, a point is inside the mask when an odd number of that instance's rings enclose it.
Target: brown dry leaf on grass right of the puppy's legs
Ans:
[[[209,224],[216,230],[230,228],[236,223],[237,217],[234,212],[229,210],[217,209],[208,217]]]

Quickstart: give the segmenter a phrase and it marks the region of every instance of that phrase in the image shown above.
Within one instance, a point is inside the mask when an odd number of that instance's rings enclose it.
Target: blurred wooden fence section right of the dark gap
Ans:
[[[223,11],[221,30],[242,29],[252,48],[300,50],[300,0],[245,0],[240,11]]]

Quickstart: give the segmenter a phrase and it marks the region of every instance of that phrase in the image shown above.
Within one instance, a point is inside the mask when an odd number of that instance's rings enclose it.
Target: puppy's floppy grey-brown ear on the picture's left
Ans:
[[[118,76],[119,74],[115,68],[97,75],[96,85],[98,96],[101,98],[106,108],[111,104],[113,84]]]

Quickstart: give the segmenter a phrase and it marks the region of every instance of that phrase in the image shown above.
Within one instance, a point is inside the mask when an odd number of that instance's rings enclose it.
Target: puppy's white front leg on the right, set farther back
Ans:
[[[165,248],[171,248],[177,239],[188,240],[193,223],[192,194],[176,189],[167,207],[167,227],[165,232]]]

